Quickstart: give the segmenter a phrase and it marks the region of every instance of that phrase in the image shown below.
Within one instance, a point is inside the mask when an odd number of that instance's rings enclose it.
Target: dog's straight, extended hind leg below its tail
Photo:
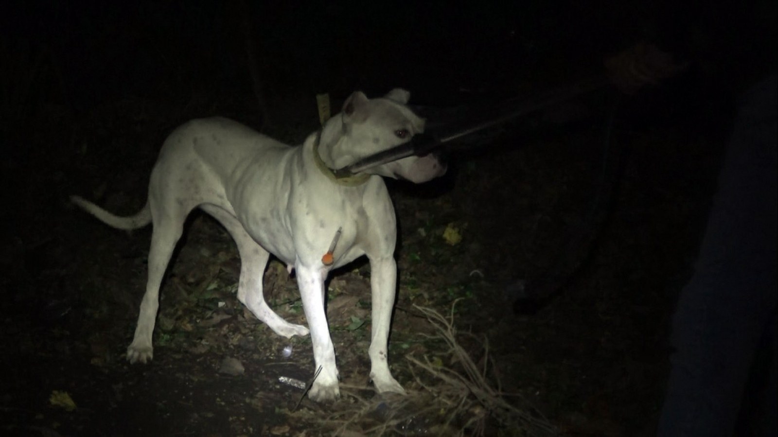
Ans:
[[[149,280],[141,301],[138,314],[138,326],[135,327],[135,337],[127,348],[129,362],[146,362],[153,358],[152,333],[159,309],[159,285],[165,275],[167,264],[173,255],[173,250],[184,229],[186,211],[163,211],[153,208],[152,223],[154,230],[151,236],[149,250]],[[153,214],[153,212],[158,212]]]

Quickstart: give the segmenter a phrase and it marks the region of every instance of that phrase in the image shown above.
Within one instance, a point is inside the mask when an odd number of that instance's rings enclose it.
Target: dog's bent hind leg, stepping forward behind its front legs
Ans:
[[[262,294],[262,277],[265,265],[268,264],[270,253],[263,249],[248,235],[237,218],[215,205],[202,205],[202,210],[208,212],[224,225],[233,236],[240,253],[240,279],[238,280],[238,300],[243,303],[254,316],[272,329],[275,334],[283,337],[293,335],[308,335],[308,328],[283,320],[268,303]]]

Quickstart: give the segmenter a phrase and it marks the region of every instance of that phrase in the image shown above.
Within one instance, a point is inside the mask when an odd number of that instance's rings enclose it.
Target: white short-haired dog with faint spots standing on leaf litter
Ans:
[[[238,299],[284,337],[309,331],[283,320],[268,307],[262,277],[270,253],[290,271],[292,267],[296,270],[314,344],[314,370],[321,366],[309,392],[313,400],[332,400],[340,394],[335,349],[324,313],[324,280],[332,268],[366,255],[373,306],[370,378],[379,393],[404,393],[387,362],[397,282],[397,228],[380,176],[421,183],[443,175],[446,166],[437,156],[428,155],[400,159],[345,179],[335,178],[331,169],[401,145],[422,132],[424,120],[405,106],[409,96],[403,89],[373,100],[352,93],[341,114],[297,147],[225,118],[190,121],[173,131],[159,152],[148,201],[138,214],[117,217],[72,197],[75,204],[115,228],[153,225],[149,281],[135,338],[127,349],[128,360],[152,358],[159,285],[184,219],[199,207],[219,220],[237,243],[241,259]]]

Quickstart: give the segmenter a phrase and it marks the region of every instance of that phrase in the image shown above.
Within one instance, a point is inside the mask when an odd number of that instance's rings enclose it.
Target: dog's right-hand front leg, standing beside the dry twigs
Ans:
[[[397,264],[393,257],[370,258],[370,288],[373,292],[373,330],[370,338],[370,379],[378,393],[391,391],[405,394],[400,383],[391,376],[387,341],[397,286]]]

